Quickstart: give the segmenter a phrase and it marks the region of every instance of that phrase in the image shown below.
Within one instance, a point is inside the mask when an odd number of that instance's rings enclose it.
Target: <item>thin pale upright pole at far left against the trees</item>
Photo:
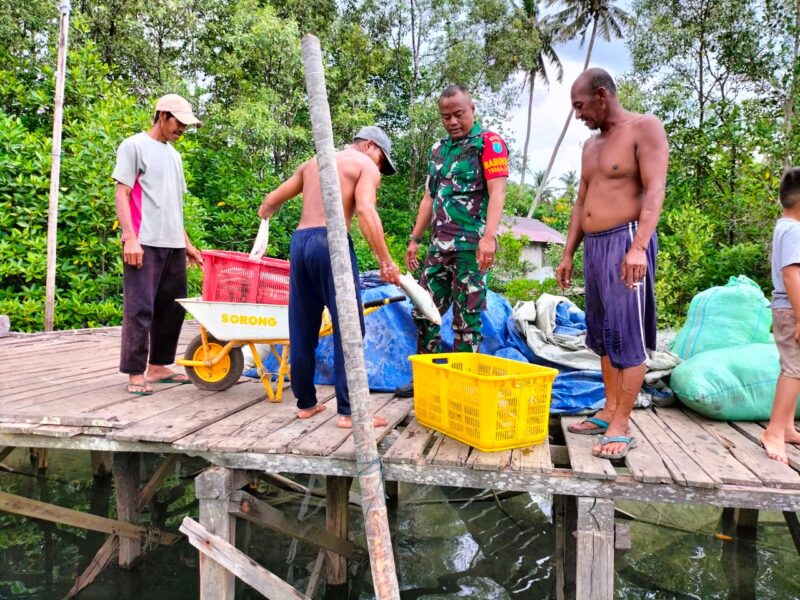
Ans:
[[[44,330],[53,331],[56,303],[56,233],[58,231],[58,187],[61,179],[61,121],[64,117],[64,78],[67,71],[67,39],[69,37],[69,0],[62,0],[61,26],[58,35],[56,97],[53,111],[53,162],[50,167],[50,208],[47,211],[47,280],[45,283]]]

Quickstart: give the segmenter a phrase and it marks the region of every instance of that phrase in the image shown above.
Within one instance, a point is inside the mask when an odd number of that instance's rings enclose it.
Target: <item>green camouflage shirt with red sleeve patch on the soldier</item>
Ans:
[[[428,157],[428,192],[433,199],[433,247],[474,250],[486,229],[487,180],[508,177],[508,149],[478,123],[460,140],[449,135]]]

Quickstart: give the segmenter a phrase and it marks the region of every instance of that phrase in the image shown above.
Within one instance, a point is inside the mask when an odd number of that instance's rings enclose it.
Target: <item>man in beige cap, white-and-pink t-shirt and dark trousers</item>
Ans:
[[[168,143],[198,125],[192,106],[176,94],[156,103],[149,131],[120,144],[111,177],[123,244],[120,371],[131,394],[153,393],[152,383],[186,383],[167,367],[175,361],[186,297],[186,262],[202,265],[183,226],[186,180],[180,154]]]

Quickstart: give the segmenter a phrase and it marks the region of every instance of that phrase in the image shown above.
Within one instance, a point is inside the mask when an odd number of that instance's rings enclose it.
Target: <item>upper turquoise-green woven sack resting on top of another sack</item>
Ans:
[[[739,275],[692,298],[672,351],[685,359],[717,348],[767,343],[772,341],[771,328],[772,311],[764,292]]]

